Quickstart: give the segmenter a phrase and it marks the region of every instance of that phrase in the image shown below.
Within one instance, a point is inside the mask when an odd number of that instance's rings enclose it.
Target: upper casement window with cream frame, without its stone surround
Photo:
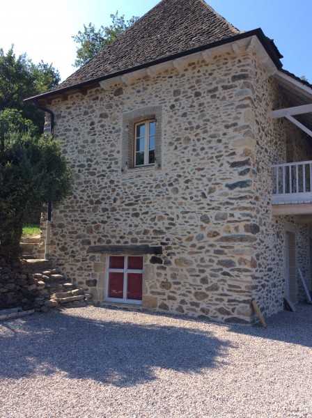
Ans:
[[[145,121],[134,125],[134,166],[155,163],[156,121]]]

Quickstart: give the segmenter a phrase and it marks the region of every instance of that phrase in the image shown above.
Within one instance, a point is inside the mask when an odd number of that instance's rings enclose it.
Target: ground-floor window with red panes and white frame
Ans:
[[[106,300],[141,304],[142,274],[142,256],[109,256]]]

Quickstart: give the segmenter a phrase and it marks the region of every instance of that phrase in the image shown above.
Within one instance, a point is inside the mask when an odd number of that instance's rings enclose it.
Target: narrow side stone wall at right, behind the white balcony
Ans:
[[[253,169],[256,180],[253,183],[258,196],[258,210],[254,222],[260,234],[254,242],[257,268],[253,276],[253,297],[267,316],[283,309],[286,265],[286,226],[295,225],[292,216],[272,216],[273,176],[272,164],[286,162],[286,148],[291,141],[293,161],[312,160],[311,140],[286,119],[267,117],[272,109],[290,107],[286,95],[273,77],[263,77],[265,71],[255,56],[253,80],[256,100],[251,104],[255,123],[253,134],[256,147],[253,155]],[[289,149],[289,148],[288,148]],[[295,226],[297,242],[297,266],[310,282],[309,226]],[[310,283],[309,283],[310,284]],[[305,298],[302,283],[297,275],[298,300]]]

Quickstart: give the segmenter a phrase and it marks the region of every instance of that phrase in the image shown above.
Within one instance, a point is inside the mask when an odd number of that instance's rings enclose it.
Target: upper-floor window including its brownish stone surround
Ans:
[[[121,169],[162,166],[162,106],[123,114]],[[127,172],[127,171],[125,171]]]

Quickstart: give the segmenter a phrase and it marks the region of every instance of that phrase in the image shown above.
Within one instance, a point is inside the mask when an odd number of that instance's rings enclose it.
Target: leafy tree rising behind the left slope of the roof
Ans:
[[[126,21],[125,15],[118,16],[118,10],[116,15],[110,15],[110,17],[111,24],[109,26],[100,26],[97,31],[95,26],[89,23],[88,26],[84,25],[83,32],[79,31],[77,35],[72,36],[75,42],[80,45],[77,48],[75,67],[79,68],[84,65],[139,19],[139,17],[132,16],[130,20]]]

